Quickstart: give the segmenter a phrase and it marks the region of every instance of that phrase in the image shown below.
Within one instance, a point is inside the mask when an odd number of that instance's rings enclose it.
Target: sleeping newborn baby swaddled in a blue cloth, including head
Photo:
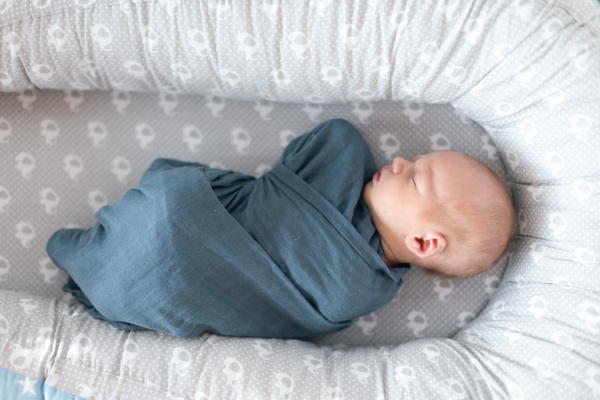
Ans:
[[[443,277],[490,268],[516,229],[500,178],[453,151],[377,170],[348,121],[290,142],[260,178],[156,159],[90,229],[46,250],[63,290],[119,329],[301,338],[388,303],[411,264]]]

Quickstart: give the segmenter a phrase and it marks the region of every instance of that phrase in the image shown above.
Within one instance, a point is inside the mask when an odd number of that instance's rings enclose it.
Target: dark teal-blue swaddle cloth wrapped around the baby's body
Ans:
[[[63,290],[120,329],[187,338],[300,338],[338,331],[389,302],[409,264],[388,269],[362,200],[377,171],[343,119],[318,125],[252,176],[156,159],[87,230],[46,246]]]

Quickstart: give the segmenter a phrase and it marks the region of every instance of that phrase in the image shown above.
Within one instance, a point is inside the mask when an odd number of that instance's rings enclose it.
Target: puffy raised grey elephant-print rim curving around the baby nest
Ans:
[[[82,383],[63,378],[84,368],[100,397],[115,387],[123,396],[143,387],[148,399],[600,396],[596,0],[79,3],[0,3],[3,91],[34,84],[284,102],[450,102],[487,130],[507,165],[515,246],[489,305],[452,339],[335,352],[210,335],[181,342],[115,331],[74,317],[75,305],[36,299],[52,310],[44,322],[57,344],[40,346],[37,332],[23,328],[35,323],[30,316],[8,316],[22,296],[3,293],[3,368],[14,368],[11,351],[27,350],[31,361],[19,373],[78,393]],[[106,329],[123,358],[86,356],[88,329]],[[142,341],[162,349],[168,379],[126,361]],[[247,348],[247,357],[228,355],[234,348]],[[257,366],[271,373],[252,374]]]

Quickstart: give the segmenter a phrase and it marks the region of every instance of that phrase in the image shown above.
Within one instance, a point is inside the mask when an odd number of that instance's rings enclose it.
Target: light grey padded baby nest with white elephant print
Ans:
[[[0,394],[598,398],[599,16],[596,0],[0,3]],[[48,237],[91,226],[153,159],[259,176],[332,118],[378,166],[451,149],[497,171],[509,253],[464,281],[414,267],[311,341],[120,331],[63,296]]]

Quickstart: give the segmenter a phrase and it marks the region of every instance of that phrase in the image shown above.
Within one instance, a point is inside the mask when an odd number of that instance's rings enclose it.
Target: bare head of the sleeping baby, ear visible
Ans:
[[[408,262],[469,278],[506,252],[517,217],[502,179],[481,161],[436,151],[394,159],[364,188],[388,266]]]

